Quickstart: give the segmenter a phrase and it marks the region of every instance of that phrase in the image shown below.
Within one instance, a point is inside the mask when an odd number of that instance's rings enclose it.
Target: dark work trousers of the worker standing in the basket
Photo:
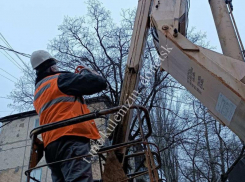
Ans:
[[[63,136],[45,148],[47,163],[87,155],[90,140],[79,136]],[[87,161],[90,159],[87,158]],[[93,182],[91,164],[83,159],[50,165],[53,182]]]

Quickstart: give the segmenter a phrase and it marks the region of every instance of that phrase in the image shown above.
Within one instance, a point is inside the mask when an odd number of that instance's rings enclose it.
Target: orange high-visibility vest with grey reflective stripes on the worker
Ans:
[[[36,84],[34,107],[40,117],[40,125],[90,113],[87,105],[80,99],[66,95],[59,90],[58,76],[59,74],[45,77]],[[95,121],[89,120],[43,133],[44,147],[65,135],[83,136],[90,139],[100,138]]]

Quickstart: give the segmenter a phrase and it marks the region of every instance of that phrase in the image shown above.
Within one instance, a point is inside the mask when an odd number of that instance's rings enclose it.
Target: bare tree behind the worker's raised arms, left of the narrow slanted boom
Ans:
[[[86,18],[66,17],[59,26],[61,34],[48,46],[60,60],[60,67],[74,70],[82,64],[106,78],[110,89],[104,94],[112,106],[119,103],[134,12],[123,11],[122,15],[122,22],[115,24],[100,2],[88,1]]]

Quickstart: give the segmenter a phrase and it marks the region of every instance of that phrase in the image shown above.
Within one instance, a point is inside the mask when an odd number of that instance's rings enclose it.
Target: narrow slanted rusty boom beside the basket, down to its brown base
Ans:
[[[121,90],[119,105],[127,104],[126,100],[135,91],[138,91],[138,83],[140,81],[140,70],[143,64],[144,50],[149,30],[149,14],[152,0],[139,0],[135,17],[134,30],[131,38],[128,60],[125,68],[125,76]],[[123,106],[125,107],[125,106]],[[123,109],[122,107],[122,109]],[[113,135],[113,145],[128,141],[132,112],[127,110],[124,117],[118,123]],[[110,121],[109,121],[110,125]],[[118,151],[125,154],[125,149]],[[106,182],[127,179],[123,171],[123,161],[118,160],[118,156],[110,153],[107,157],[103,180]],[[113,167],[111,167],[113,166]]]

